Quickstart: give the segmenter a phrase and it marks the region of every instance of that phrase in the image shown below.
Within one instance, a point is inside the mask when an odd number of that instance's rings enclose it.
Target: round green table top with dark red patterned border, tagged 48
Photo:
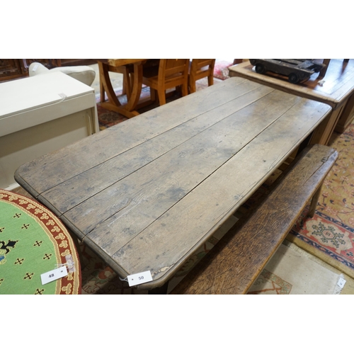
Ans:
[[[70,263],[66,277],[42,285],[40,275]],[[80,294],[74,242],[55,215],[35,200],[0,190],[0,294]]]

